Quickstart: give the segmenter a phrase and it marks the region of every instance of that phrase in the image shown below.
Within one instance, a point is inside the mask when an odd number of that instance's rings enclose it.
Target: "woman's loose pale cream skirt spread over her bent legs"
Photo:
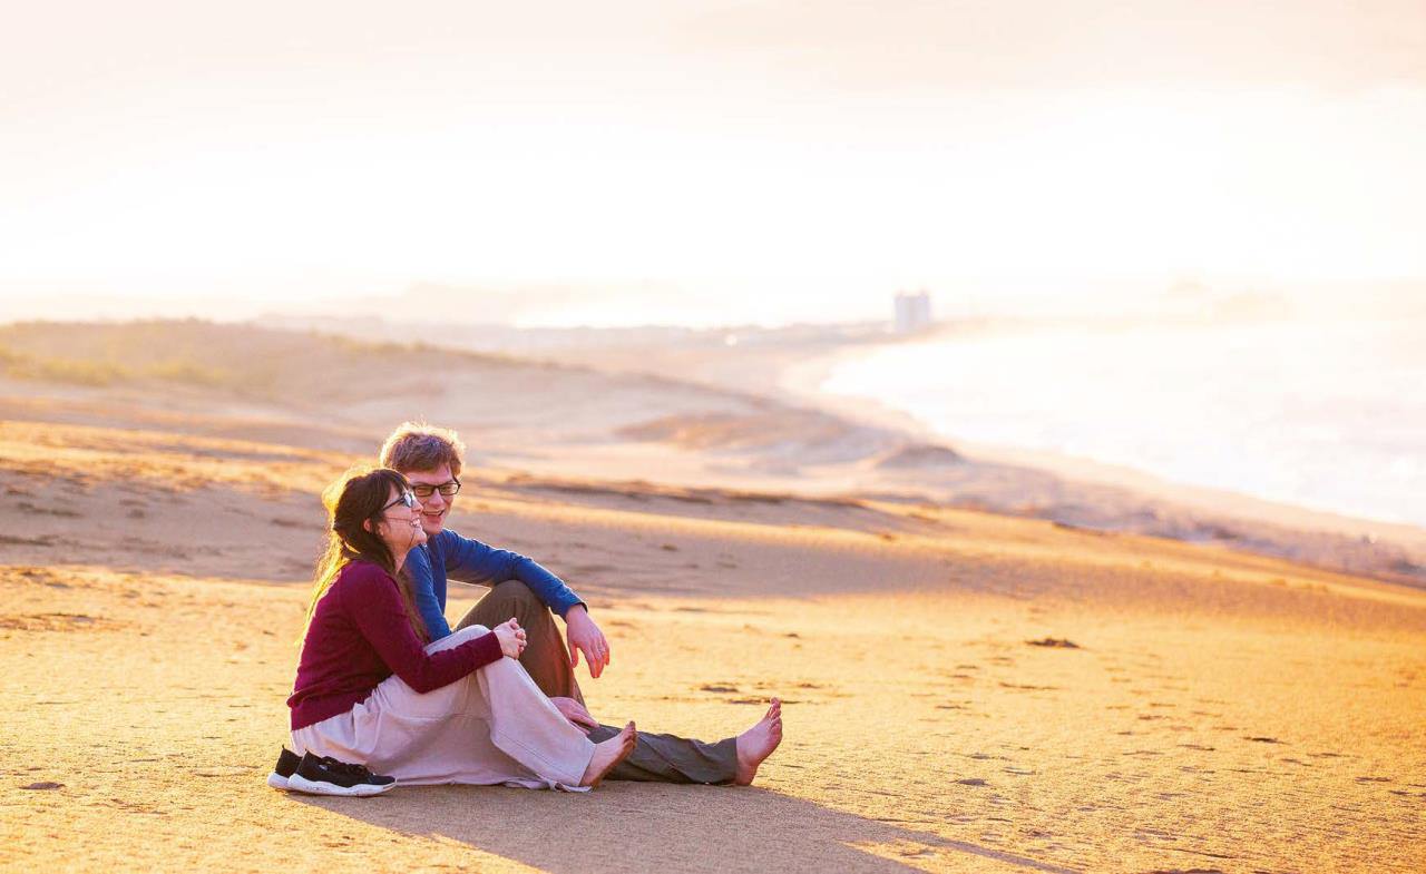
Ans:
[[[426,646],[451,649],[485,634],[462,629]],[[515,659],[501,659],[419,694],[392,674],[371,697],[292,731],[298,756],[365,764],[398,783],[475,783],[588,791],[579,786],[595,744],[566,720]]]

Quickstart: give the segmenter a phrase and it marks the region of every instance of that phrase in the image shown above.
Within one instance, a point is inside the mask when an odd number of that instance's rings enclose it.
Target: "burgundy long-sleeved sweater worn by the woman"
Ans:
[[[426,654],[411,630],[396,580],[371,562],[342,567],[302,642],[297,683],[287,706],[292,730],[347,713],[396,674],[425,694],[503,656],[495,632]]]

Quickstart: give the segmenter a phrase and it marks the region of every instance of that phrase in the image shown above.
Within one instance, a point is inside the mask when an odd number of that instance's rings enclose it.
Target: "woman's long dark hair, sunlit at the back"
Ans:
[[[391,500],[391,489],[404,492],[411,488],[405,476],[391,468],[354,469],[348,471],[322,490],[322,503],[327,506],[327,547],[322,557],[317,560],[317,570],[312,575],[312,600],[307,606],[307,624],[312,624],[317,613],[317,602],[322,600],[327,590],[337,582],[337,575],[352,562],[371,562],[396,580],[401,590],[401,600],[406,607],[406,619],[411,630],[422,642],[428,642],[431,634],[421,622],[416,612],[416,602],[411,593],[411,580],[405,573],[396,573],[396,559],[391,555],[386,543],[376,535],[376,526],[382,522],[382,508]],[[365,523],[369,523],[369,529]]]

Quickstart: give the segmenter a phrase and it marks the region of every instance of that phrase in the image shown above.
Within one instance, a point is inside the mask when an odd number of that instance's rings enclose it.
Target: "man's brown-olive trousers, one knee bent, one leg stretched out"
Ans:
[[[585,696],[569,666],[569,649],[555,617],[529,586],[519,580],[499,583],[461,619],[456,629],[485,626],[493,629],[515,617],[525,629],[520,664],[549,697]],[[589,733],[595,743],[619,733],[600,726]],[[737,740],[727,737],[709,744],[674,734],[639,731],[633,753],[609,773],[609,780],[647,780],[656,783],[732,783],[737,776]]]

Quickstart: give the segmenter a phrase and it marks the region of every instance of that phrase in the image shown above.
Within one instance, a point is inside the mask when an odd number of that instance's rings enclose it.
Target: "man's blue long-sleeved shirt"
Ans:
[[[520,580],[560,617],[575,605],[585,603],[565,580],[533,559],[462,538],[451,529],[412,549],[406,555],[405,570],[411,575],[416,612],[432,640],[451,636],[451,624],[445,619],[446,577],[482,586]]]

